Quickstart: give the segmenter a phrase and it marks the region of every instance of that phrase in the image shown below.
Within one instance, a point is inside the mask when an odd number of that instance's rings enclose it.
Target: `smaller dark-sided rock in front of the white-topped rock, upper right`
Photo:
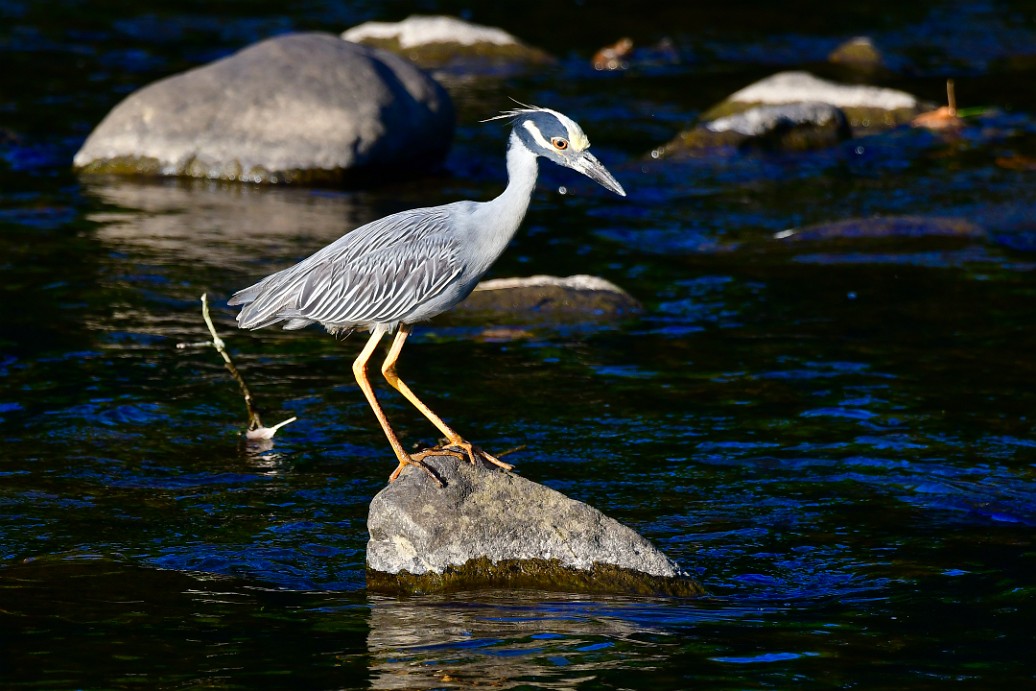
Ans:
[[[681,133],[657,152],[679,156],[723,147],[804,151],[852,137],[841,109],[822,103],[759,106]]]

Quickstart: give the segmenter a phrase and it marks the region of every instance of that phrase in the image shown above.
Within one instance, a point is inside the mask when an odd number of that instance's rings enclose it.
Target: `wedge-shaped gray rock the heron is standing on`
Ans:
[[[411,466],[371,501],[369,589],[701,594],[648,540],[588,505],[493,466],[429,465],[445,487]]]

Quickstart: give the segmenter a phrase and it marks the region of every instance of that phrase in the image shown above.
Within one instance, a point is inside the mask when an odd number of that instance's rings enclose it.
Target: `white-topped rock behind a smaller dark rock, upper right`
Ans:
[[[910,122],[928,108],[905,91],[858,84],[838,84],[805,71],[783,71],[755,82],[709,110],[715,120],[758,106],[822,103],[839,108],[854,129],[881,129]]]

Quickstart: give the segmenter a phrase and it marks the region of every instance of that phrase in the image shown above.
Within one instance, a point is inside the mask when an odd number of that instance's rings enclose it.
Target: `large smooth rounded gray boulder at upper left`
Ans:
[[[445,91],[406,60],[289,34],[131,94],[74,166],[254,182],[399,176],[439,163],[453,123]]]

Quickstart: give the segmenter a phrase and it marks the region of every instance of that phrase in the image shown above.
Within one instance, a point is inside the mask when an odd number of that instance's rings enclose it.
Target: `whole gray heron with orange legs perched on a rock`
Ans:
[[[473,448],[432,412],[396,375],[396,361],[411,325],[464,299],[502,254],[528,208],[536,186],[537,159],[543,156],[576,170],[626,196],[587,150],[589,140],[571,118],[547,108],[523,107],[490,120],[505,118],[513,124],[508,142],[508,185],[496,199],[412,209],[373,221],[230,298],[230,305],[244,306],[237,315],[241,328],[279,322],[284,322],[284,328],[301,328],[317,322],[334,335],[357,328],[371,333],[352,364],[352,372],[399,459],[390,480],[405,465],[424,466],[422,459],[430,455],[466,457],[473,463],[478,454],[511,467]],[[381,373],[445,436],[441,448],[408,454],[371,388],[367,363],[381,338],[393,332],[396,338]]]

